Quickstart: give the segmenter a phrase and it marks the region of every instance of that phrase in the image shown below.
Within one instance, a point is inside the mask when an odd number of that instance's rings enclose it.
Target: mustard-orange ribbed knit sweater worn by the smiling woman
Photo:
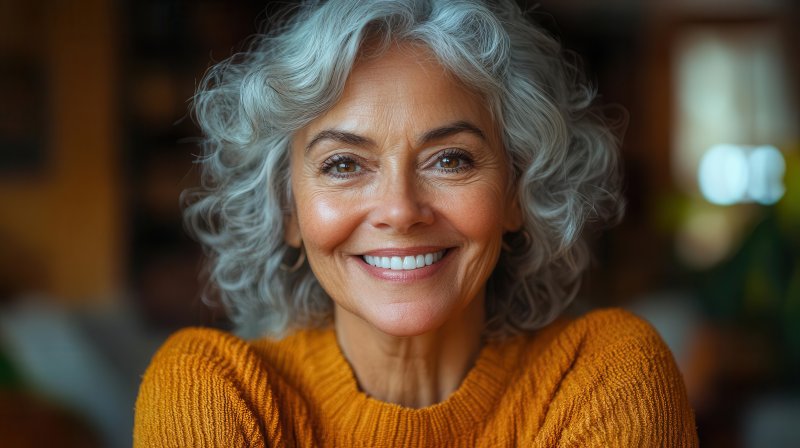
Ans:
[[[332,330],[173,335],[144,374],[136,447],[685,447],[694,416],[669,349],[621,310],[489,342],[422,409],[359,390]]]

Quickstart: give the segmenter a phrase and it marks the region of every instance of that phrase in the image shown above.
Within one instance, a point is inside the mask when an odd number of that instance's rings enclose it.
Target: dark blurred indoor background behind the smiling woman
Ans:
[[[200,299],[187,99],[282,2],[0,0],[0,445],[129,446]],[[800,446],[800,2],[525,2],[624,107],[628,213],[576,310],[671,346],[710,447]]]

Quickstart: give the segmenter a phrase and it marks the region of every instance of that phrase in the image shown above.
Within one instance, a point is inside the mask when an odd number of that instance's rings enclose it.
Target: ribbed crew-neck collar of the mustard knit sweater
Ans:
[[[391,436],[383,442],[396,446],[453,441],[483,426],[506,387],[508,372],[513,371],[509,363],[518,359],[508,352],[518,350],[519,345],[487,344],[450,397],[413,409],[382,402],[360,391],[333,331],[316,333],[308,343],[304,361],[308,363],[304,374],[308,392],[323,420],[332,425],[337,440],[348,434],[376,434]]]

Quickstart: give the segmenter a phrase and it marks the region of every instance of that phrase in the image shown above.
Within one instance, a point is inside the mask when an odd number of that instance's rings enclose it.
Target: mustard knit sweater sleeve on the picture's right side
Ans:
[[[683,379],[656,331],[619,310],[592,319],[561,386],[569,398],[553,403],[558,446],[696,447]]]

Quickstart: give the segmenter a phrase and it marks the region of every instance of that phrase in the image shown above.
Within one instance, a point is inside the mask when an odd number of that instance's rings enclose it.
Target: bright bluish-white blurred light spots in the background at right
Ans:
[[[698,170],[700,192],[709,202],[770,205],[783,196],[786,164],[774,146],[715,145]]]

